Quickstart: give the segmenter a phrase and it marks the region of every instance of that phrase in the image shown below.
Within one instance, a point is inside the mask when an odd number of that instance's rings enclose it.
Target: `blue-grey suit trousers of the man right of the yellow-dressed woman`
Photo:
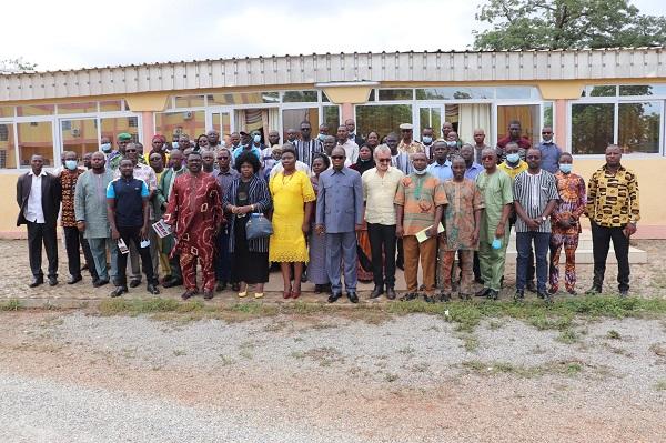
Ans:
[[[326,233],[326,273],[333,293],[342,292],[341,264],[344,264],[344,289],[356,292],[356,232]]]

